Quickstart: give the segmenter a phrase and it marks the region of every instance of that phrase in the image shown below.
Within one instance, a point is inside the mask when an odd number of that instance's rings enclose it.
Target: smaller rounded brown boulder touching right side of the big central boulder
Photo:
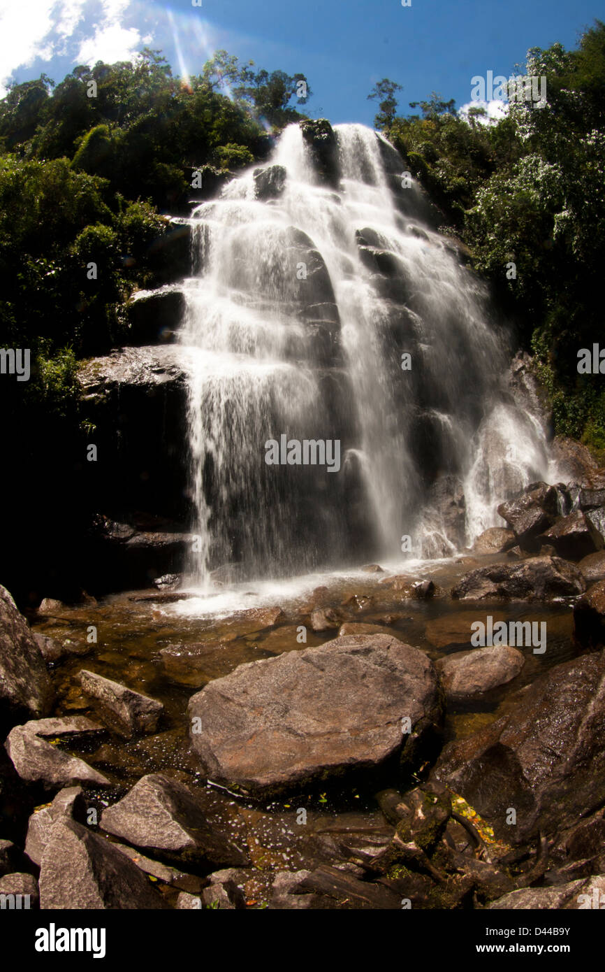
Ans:
[[[525,659],[518,648],[492,644],[458,651],[436,663],[448,702],[480,698],[491,688],[505,685],[521,672]]]

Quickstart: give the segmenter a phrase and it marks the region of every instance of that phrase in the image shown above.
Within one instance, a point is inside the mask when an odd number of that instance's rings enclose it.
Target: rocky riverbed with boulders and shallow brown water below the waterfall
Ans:
[[[222,572],[204,594],[163,577],[27,618],[3,588],[0,892],[586,907],[605,889],[599,477],[531,484],[447,561]]]

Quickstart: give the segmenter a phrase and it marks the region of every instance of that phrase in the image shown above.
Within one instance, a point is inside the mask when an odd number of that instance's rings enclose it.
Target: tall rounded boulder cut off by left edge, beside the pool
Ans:
[[[15,724],[23,716],[39,718],[50,707],[50,678],[42,652],[17,610],[0,586],[0,725]]]

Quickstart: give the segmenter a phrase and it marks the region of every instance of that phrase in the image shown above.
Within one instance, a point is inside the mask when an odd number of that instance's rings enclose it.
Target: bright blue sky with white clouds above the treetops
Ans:
[[[199,72],[218,48],[267,70],[307,75],[308,110],[371,124],[370,89],[403,85],[400,106],[439,91],[470,101],[471,78],[507,77],[530,47],[575,47],[600,0],[0,0],[0,86],[45,71],[161,49],[176,74]],[[3,88],[0,88],[0,91]]]

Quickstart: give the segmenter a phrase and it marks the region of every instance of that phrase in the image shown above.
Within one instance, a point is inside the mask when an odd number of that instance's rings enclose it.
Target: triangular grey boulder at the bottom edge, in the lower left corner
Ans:
[[[40,867],[43,909],[166,908],[146,875],[109,841],[75,820],[52,828]]]

